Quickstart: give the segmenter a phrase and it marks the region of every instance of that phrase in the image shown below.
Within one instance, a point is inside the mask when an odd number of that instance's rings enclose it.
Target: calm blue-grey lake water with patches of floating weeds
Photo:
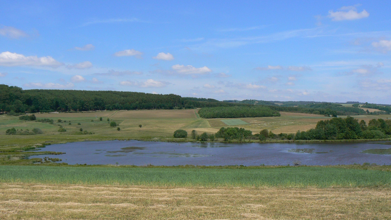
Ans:
[[[382,143],[382,144],[380,144]],[[129,165],[305,165],[391,164],[391,155],[360,153],[367,149],[391,148],[390,142],[333,143],[173,143],[146,141],[88,141],[53,144],[41,151],[65,152],[55,157],[68,164]]]

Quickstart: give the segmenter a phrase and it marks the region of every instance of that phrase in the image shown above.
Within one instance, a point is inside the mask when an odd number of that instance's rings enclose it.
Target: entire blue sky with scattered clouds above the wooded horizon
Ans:
[[[0,84],[391,104],[391,1],[0,2]]]

